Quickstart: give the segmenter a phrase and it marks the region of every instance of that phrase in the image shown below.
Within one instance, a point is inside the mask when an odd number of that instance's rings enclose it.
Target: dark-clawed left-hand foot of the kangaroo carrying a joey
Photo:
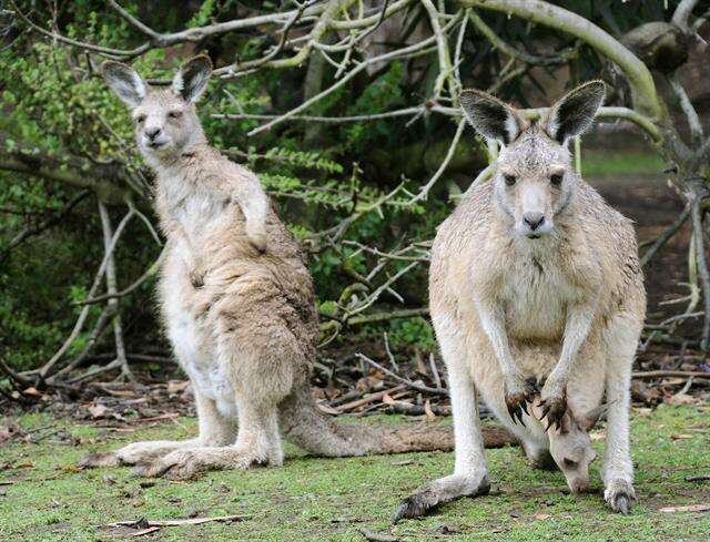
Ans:
[[[490,483],[485,472],[477,475],[453,474],[432,480],[399,503],[392,521],[397,523],[405,518],[418,518],[444,502],[460,497],[485,495],[488,491]]]

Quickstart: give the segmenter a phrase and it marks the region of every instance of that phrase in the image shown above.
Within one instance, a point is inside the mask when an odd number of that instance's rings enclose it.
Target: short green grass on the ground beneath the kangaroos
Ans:
[[[703,411],[704,410],[704,411]],[[491,494],[463,499],[433,515],[392,526],[399,499],[420,482],[450,472],[450,453],[409,453],[353,459],[314,459],[287,450],[283,468],[211,472],[192,482],[155,480],[141,487],[128,468],[80,471],[87,452],[135,440],[184,438],[194,420],[165,422],[118,436],[70,425],[49,415],[26,415],[24,429],[55,425],[74,446],[11,443],[0,447],[0,540],[115,540],[131,531],[110,522],[251,514],[232,524],[164,528],[153,540],[364,540],[358,528],[402,540],[708,540],[710,512],[663,513],[663,505],[710,502],[708,410],[660,407],[633,415],[636,490],[640,502],[628,517],[611,514],[599,494],[562,494],[560,473],[530,469],[518,448],[489,450]],[[680,438],[679,438],[680,437]],[[406,462],[402,464],[402,462]],[[410,462],[409,462],[410,461]],[[400,464],[397,464],[400,463]],[[596,462],[595,479],[599,464]],[[596,482],[600,489],[600,482]],[[149,538],[149,536],[146,536]]]

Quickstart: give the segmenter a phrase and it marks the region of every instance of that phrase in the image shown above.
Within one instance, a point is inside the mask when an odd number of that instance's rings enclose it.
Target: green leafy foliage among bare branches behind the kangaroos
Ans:
[[[57,29],[68,39],[104,48],[131,49],[145,41],[135,27],[104,2],[80,0],[60,2],[18,1],[36,24]],[[580,13],[616,37],[642,22],[668,19],[677,1],[660,2],[566,0],[564,7]],[[158,32],[196,29],[206,24],[270,14],[286,9],[288,2],[236,2],[204,0],[175,4],[168,0],[125,1],[120,4]],[[439,2],[444,8],[449,2]],[[450,2],[454,6],[454,2]],[[532,25],[503,13],[483,12],[481,18],[506,42],[527,54],[544,51],[576,51],[558,67],[526,69],[519,76],[504,80],[510,62],[505,52],[475,30],[466,34],[460,63],[456,70],[464,85],[496,88],[503,98],[521,105],[536,92],[545,91],[544,76],[571,69],[572,79],[597,76],[606,67],[589,48],[560,32]],[[338,13],[338,18],[349,17]],[[429,27],[418,2],[402,11],[396,43],[416,41],[417,31]],[[54,161],[58,172],[75,172],[87,177],[95,167],[120,170],[120,188],[125,200],[150,214],[150,172],[135,153],[130,115],[98,75],[103,57],[85,52],[30,31],[19,22],[8,32],[8,44],[0,49],[0,85],[3,115],[0,135],[4,154]],[[295,35],[295,34],[294,34]],[[341,34],[343,38],[345,34]],[[292,35],[293,38],[293,35]],[[452,47],[453,47],[453,39]],[[206,51],[217,67],[248,62],[278,43],[278,32],[261,29],[220,33],[191,40],[171,48],[153,48],[130,61],[142,74],[169,80],[182,60]],[[382,43],[363,42],[353,52],[352,65],[366,62]],[[292,54],[292,52],[288,52]],[[261,120],[231,119],[231,115],[273,115],[287,111],[306,99],[310,89],[321,89],[342,78],[321,53],[290,69],[263,69],[247,76],[214,78],[200,104],[200,115],[210,141],[233,160],[243,162],[262,178],[274,196],[282,217],[310,253],[318,305],[324,316],[341,318],[348,303],[342,299],[354,284],[368,284],[368,274],[381,258],[357,249],[347,242],[363,243],[379,250],[394,250],[408,243],[432,239],[435,227],[452,208],[449,195],[458,195],[481,164],[481,152],[468,150],[470,140],[462,140],[456,160],[434,186],[428,197],[413,203],[412,195],[426,183],[444,160],[455,123],[442,115],[424,113],[372,122],[318,123],[292,120],[277,129],[248,136]],[[320,59],[320,60],[318,60]],[[313,81],[321,62],[321,81]],[[402,58],[359,72],[347,84],[306,111],[311,115],[371,115],[404,108],[453,105],[449,96],[429,103],[442,67],[434,48],[416,57]],[[565,75],[567,76],[567,75]],[[498,85],[498,83],[500,83]],[[497,86],[498,85],[498,86]],[[317,92],[317,91],[316,91]],[[468,136],[466,136],[468,137]],[[466,141],[466,143],[463,143]],[[476,147],[479,144],[476,143]],[[456,164],[456,162],[458,162]],[[78,165],[79,164],[79,165]],[[104,170],[101,170],[104,171]],[[403,175],[407,172],[410,178]],[[111,181],[111,182],[113,182]],[[393,192],[394,191],[394,192]],[[22,232],[32,229],[55,214],[77,195],[78,188],[51,180],[10,173],[0,168],[0,340],[9,362],[31,368],[45,360],[72,328],[78,307],[72,300],[87,295],[91,277],[102,257],[101,227],[92,197],[82,202],[68,217],[51,228],[8,248]],[[379,204],[378,202],[384,202]],[[114,204],[116,202],[113,202]],[[125,205],[111,209],[115,224]],[[150,218],[154,221],[153,216]],[[323,232],[346,223],[348,227],[333,242]],[[139,277],[155,260],[160,247],[141,221],[129,228],[129,243],[118,249],[120,286]],[[386,267],[377,280],[403,269],[404,263]],[[385,277],[385,278],[382,278]],[[419,265],[396,285],[396,294],[384,292],[373,311],[426,306],[426,266]],[[129,349],[141,351],[158,340],[159,326],[150,308],[150,283],[121,299],[128,315]],[[7,295],[4,295],[7,293]],[[95,323],[98,309],[90,311],[89,324],[72,352],[87,340],[87,329]],[[359,337],[381,336],[384,325],[354,330]],[[433,348],[432,333],[424,319],[395,323],[392,340],[396,348],[417,344]],[[99,351],[111,349],[105,334]]]

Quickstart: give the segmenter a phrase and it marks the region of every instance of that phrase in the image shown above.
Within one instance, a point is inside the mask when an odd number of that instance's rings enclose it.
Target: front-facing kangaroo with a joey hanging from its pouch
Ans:
[[[605,500],[627,513],[636,499],[629,386],[646,311],[636,238],[575,173],[568,151],[604,96],[602,82],[586,83],[530,122],[489,94],[462,92],[470,124],[503,146],[493,180],[465,194],[432,249],[429,306],[449,378],[455,468],[404,500],[395,521],[488,491],[477,391],[532,464],[551,457],[574,492],[589,483],[587,431],[606,391]]]

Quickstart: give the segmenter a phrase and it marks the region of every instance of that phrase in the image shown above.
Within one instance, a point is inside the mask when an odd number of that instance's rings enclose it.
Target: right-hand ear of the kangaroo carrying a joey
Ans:
[[[589,81],[568,92],[550,108],[547,133],[559,143],[586,132],[606,94],[602,81]]]

